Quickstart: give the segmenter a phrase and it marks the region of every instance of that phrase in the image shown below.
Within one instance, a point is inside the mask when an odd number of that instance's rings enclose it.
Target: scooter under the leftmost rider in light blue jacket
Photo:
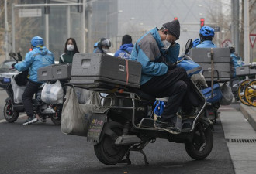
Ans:
[[[22,56],[18,53],[18,60],[16,59],[16,53],[9,53],[13,59],[22,61]],[[27,71],[16,74],[11,78],[11,82],[5,88],[9,97],[5,99],[4,117],[9,123],[15,122],[19,118],[19,113],[25,112],[25,108],[22,103],[15,103],[14,93],[12,89],[12,80],[15,80],[17,88],[21,89],[26,87]],[[18,90],[19,90],[18,89]],[[41,100],[41,92],[43,84],[40,86],[33,99],[33,110],[40,118],[50,118],[54,125],[61,125],[61,111],[63,104],[46,104]],[[22,90],[19,90],[22,91]],[[22,94],[19,94],[22,96]],[[42,119],[44,121],[45,119]]]

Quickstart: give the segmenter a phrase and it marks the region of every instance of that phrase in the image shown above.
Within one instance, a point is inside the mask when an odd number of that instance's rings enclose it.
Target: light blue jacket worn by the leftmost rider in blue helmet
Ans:
[[[26,53],[25,60],[15,65],[15,69],[19,71],[29,70],[29,80],[38,82],[37,70],[40,67],[46,67],[54,64],[54,54],[45,46],[35,47],[29,53]]]

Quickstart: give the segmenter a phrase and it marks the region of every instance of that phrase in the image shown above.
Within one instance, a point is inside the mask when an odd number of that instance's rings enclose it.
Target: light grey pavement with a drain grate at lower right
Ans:
[[[236,174],[256,173],[256,131],[248,122],[255,121],[256,110],[244,106],[240,109],[246,111],[248,119],[242,112],[224,107],[220,108],[220,120]]]

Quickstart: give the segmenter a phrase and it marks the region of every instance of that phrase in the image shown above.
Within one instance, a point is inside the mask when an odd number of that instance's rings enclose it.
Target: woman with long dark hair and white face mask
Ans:
[[[68,38],[64,46],[64,53],[60,56],[59,63],[72,63],[75,53],[79,53],[77,43],[74,38]]]

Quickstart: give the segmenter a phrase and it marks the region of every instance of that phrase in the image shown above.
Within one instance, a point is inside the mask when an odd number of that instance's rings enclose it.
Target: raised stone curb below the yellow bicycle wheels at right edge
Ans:
[[[240,104],[240,110],[244,114],[244,118],[248,119],[254,131],[256,131],[256,107]]]

